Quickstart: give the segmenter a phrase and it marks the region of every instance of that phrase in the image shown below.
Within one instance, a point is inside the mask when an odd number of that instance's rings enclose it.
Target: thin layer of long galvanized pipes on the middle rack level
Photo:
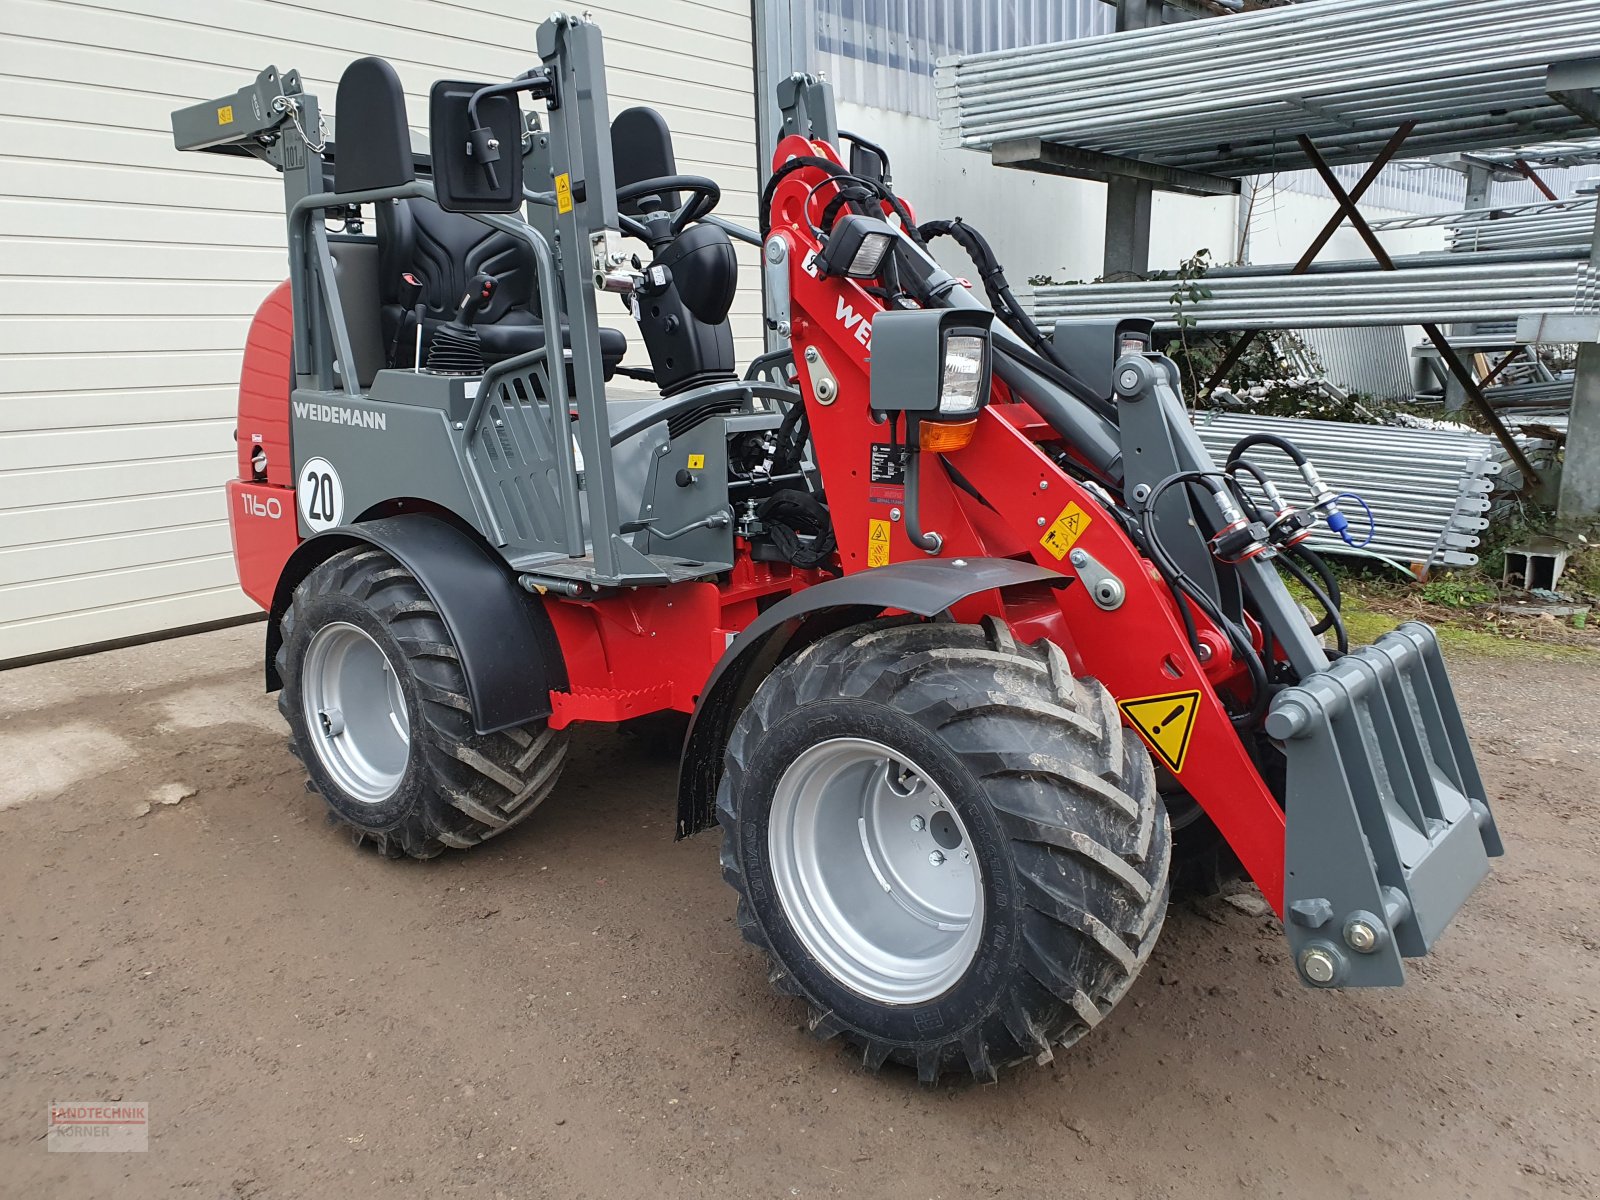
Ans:
[[[1595,5],[1600,11],[1600,3]],[[1213,272],[1192,286],[1210,296],[1187,299],[1179,280],[1050,285],[1034,290],[1038,322],[1062,317],[1149,317],[1162,328],[1310,330],[1363,325],[1451,325],[1506,320],[1525,314],[1600,310],[1587,262],[1474,262],[1400,270],[1328,270],[1306,275]],[[1173,296],[1182,296],[1174,301]]]

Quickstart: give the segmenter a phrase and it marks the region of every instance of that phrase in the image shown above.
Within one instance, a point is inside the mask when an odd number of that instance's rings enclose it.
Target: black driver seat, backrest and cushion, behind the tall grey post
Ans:
[[[493,365],[544,346],[533,251],[510,234],[490,229],[461,213],[446,213],[432,200],[390,200],[378,205],[378,258],[386,347],[395,347],[402,322],[406,323],[392,366],[411,366],[416,347],[416,325],[402,304],[403,277],[408,272],[422,286],[418,302],[426,306],[424,365],[434,331],[456,315],[467,282],[478,272],[499,282],[494,299],[477,320],[485,363]],[[573,344],[565,320],[562,344],[566,349]],[[627,338],[622,331],[602,325],[600,357],[606,379],[626,352]]]

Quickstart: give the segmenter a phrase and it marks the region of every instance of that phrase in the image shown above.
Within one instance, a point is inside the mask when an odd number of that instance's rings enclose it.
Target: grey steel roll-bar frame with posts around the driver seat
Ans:
[[[557,528],[525,549],[584,560],[582,574],[594,584],[664,584],[669,582],[670,571],[637,550],[621,533],[624,522],[618,507],[608,427],[594,285],[597,280],[605,282],[622,264],[622,253],[600,29],[584,18],[552,16],[539,26],[536,46],[550,80],[552,98],[547,107],[549,128],[539,128],[536,118],[530,120],[531,128],[523,139],[525,168],[530,181],[560,181],[557,190],[566,202],[550,205],[542,203],[542,195],[530,197],[526,219],[496,213],[466,216],[528,246],[550,333],[544,347],[498,363],[470,398],[470,408],[451,413],[451,432],[458,435],[456,456],[475,493],[470,498],[475,523],[491,541],[499,541],[496,534],[506,522],[496,517],[501,506],[483,478],[482,454],[475,456],[472,446],[480,442],[480,426],[486,421],[494,389],[512,386],[509,381],[520,376],[517,395],[526,398],[533,390],[541,395],[538,405],[523,405],[538,408],[539,413],[518,416],[526,422],[547,426],[542,430],[530,426],[526,445],[541,445],[542,454],[549,458],[547,464],[533,466],[547,466],[552,472],[549,499],[560,507]],[[317,133],[320,126],[317,98],[304,91],[298,72],[278,72],[277,67],[267,67],[234,96],[173,114],[178,149],[251,155],[270,163],[283,176],[296,397],[315,397],[322,402],[387,398],[374,394],[382,394],[386,382],[398,386],[398,381],[381,378],[395,374],[394,371],[379,371],[379,379],[365,390],[358,382],[357,355],[325,219],[352,205],[435,200],[435,192],[429,181],[413,178],[411,171],[390,186],[330,190],[325,181],[325,144]],[[434,149],[442,154],[446,147]],[[416,165],[424,168],[429,163],[419,157]],[[562,254],[554,251],[554,245],[563,248]],[[574,261],[579,256],[586,261]],[[566,318],[565,330],[558,315]],[[442,382],[442,387],[448,386],[450,381]],[[406,387],[414,390],[414,382],[406,382]],[[576,411],[576,453],[565,427],[568,411]],[[442,462],[438,469],[456,470],[458,464]],[[515,565],[515,555],[509,557]]]

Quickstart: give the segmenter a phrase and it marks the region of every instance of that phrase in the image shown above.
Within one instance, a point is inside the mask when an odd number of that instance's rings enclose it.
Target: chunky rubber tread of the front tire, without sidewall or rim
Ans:
[[[965,1029],[894,1040],[842,1024],[776,958],[749,902],[742,782],[766,731],[822,698],[886,704],[936,733],[984,789],[1010,838],[1024,936],[1011,979]],[[1165,915],[1170,840],[1144,744],[1125,736],[1110,693],[1074,677],[1059,646],[1018,645],[995,619],[874,621],[781,662],[734,723],[717,818],[722,874],[739,893],[739,933],[768,955],[773,987],[800,995],[813,1032],[842,1035],[867,1070],[902,1062],[930,1085],[949,1070],[992,1080],[1010,1062],[1048,1061],[1051,1046],[1077,1042],[1138,978]]]

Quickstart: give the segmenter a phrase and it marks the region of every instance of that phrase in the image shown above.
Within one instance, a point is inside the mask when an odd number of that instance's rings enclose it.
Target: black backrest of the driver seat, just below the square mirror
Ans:
[[[531,325],[538,314],[533,251],[510,234],[446,213],[430,200],[394,200],[378,205],[378,250],[384,304],[397,304],[400,277],[416,275],[427,315],[448,320],[478,272],[494,275],[499,288],[478,315],[478,325]]]

